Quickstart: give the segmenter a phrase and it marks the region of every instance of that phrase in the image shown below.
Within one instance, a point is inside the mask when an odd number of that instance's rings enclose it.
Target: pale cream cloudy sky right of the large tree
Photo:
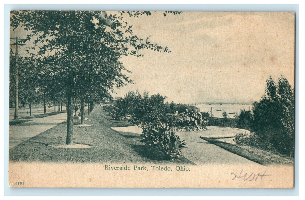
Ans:
[[[167,101],[254,101],[266,79],[282,74],[294,85],[294,13],[184,12],[129,18],[134,33],[171,53],[143,50],[124,57],[133,85],[117,89],[124,96],[139,89],[167,96]]]

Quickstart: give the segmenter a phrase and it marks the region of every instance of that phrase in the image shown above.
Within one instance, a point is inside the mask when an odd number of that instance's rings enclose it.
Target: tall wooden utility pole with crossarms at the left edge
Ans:
[[[11,45],[16,46],[16,53],[15,53],[15,114],[14,114],[14,119],[18,119],[18,45],[25,45],[25,44],[20,44],[19,42],[24,43],[27,41],[27,39],[23,38],[10,38],[11,40],[16,40],[15,43]],[[18,41],[19,40],[19,41]]]

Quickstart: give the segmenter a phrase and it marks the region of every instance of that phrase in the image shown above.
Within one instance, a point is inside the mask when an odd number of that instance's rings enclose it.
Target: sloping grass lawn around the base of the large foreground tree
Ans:
[[[109,126],[119,123],[105,118],[102,106],[96,106],[91,115],[86,115],[91,126],[74,126],[74,143],[92,146],[88,149],[54,148],[52,145],[65,144],[66,122],[49,129],[9,150],[9,160],[23,162],[97,162],[97,163],[156,163],[192,164],[186,158],[179,161],[155,160],[138,141],[139,136],[120,134]],[[74,119],[75,124],[80,119]],[[120,123],[127,125],[127,122]]]

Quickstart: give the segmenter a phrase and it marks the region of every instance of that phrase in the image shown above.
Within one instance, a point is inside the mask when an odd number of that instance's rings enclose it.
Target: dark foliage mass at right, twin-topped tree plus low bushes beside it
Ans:
[[[238,115],[237,127],[255,134],[236,137],[236,143],[293,156],[294,89],[284,76],[278,82],[274,82],[270,76],[265,92],[259,102],[253,103],[252,111],[241,110]]]

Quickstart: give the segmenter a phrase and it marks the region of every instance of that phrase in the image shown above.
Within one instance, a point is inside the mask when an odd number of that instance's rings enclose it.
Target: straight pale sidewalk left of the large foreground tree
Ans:
[[[9,149],[67,120],[67,113],[44,118],[32,118],[32,121],[9,126]]]

